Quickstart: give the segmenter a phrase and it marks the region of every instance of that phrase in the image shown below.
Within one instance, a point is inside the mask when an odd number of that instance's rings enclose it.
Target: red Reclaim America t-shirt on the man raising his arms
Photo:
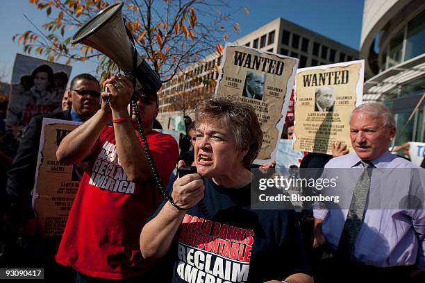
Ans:
[[[147,140],[166,186],[178,160],[176,140],[156,131]],[[140,232],[162,200],[153,179],[128,180],[117,157],[113,127],[107,126],[89,157],[56,261],[92,277],[122,279],[145,273]]]

